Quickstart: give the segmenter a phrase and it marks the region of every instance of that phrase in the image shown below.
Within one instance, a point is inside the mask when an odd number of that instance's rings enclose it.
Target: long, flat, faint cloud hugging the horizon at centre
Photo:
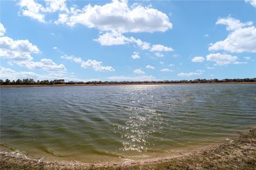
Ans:
[[[152,75],[143,75],[143,76],[136,76],[136,77],[127,77],[127,76],[111,76],[107,77],[107,79],[112,80],[112,81],[150,81],[154,80],[155,77]]]

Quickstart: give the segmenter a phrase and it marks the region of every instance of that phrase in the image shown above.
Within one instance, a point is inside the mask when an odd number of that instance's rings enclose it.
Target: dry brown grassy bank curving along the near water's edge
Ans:
[[[22,154],[1,152],[1,169],[255,169],[256,127],[239,137],[172,158],[136,160],[122,164],[46,162]]]

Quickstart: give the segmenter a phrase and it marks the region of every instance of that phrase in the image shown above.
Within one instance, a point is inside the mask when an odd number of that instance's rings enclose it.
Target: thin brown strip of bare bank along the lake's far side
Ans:
[[[131,86],[131,85],[168,85],[168,84],[256,84],[256,82],[210,82],[210,83],[117,83],[117,84],[21,84],[21,85],[1,85],[5,87],[67,87],[67,86]]]

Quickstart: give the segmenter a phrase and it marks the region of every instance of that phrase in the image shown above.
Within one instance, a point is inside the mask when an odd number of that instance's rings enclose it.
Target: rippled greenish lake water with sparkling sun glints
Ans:
[[[82,162],[171,154],[256,124],[256,84],[1,88],[1,142]]]

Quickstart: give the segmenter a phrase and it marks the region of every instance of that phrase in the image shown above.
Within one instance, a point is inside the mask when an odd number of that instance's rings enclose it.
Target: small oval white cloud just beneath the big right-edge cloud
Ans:
[[[215,65],[227,65],[236,62],[238,59],[237,56],[232,56],[228,54],[209,54],[206,56],[207,61],[215,62]]]

